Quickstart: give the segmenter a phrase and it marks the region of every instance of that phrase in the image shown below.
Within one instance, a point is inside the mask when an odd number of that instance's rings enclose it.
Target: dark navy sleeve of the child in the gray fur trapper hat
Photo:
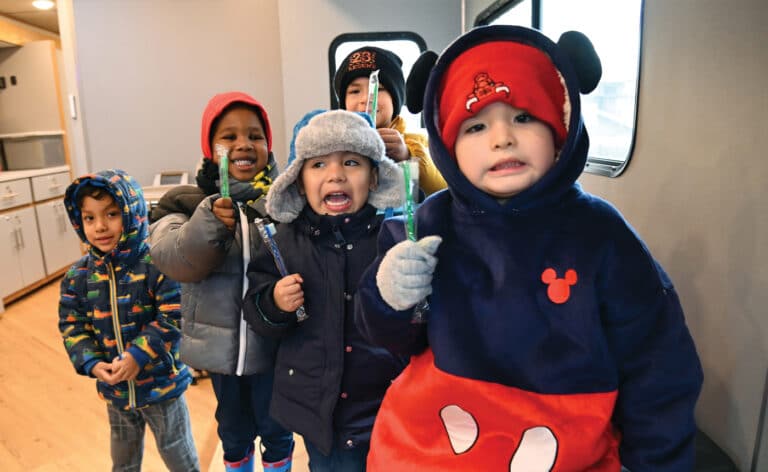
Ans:
[[[280,280],[269,248],[260,244],[248,264],[248,292],[243,299],[243,316],[256,333],[283,337],[296,327],[296,314],[282,311],[275,304],[273,291]]]

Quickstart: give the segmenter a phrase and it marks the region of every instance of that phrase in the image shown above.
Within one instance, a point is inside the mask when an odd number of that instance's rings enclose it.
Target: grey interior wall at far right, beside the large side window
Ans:
[[[467,0],[467,29],[491,3]],[[675,282],[704,366],[699,427],[741,470],[768,371],[766,18],[763,0],[645,0],[632,160],[618,178],[580,179],[620,209]],[[764,431],[763,461],[767,450]]]

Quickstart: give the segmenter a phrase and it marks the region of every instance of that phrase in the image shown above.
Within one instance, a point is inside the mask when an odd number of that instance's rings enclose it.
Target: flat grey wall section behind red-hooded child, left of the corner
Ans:
[[[73,2],[87,170],[121,167],[142,185],[163,169],[193,176],[203,108],[228,90],[262,101],[284,155],[277,3]]]

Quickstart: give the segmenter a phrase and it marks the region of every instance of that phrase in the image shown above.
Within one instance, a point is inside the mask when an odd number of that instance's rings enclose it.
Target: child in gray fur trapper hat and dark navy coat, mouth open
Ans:
[[[284,224],[275,242],[288,275],[262,245],[248,266],[244,317],[281,338],[271,416],[304,437],[310,463],[364,470],[384,392],[407,363],[368,343],[355,322],[358,280],[376,256],[383,215],[400,206],[400,168],[367,115],[318,110],[294,128],[285,171],[267,194]],[[304,306],[308,318],[299,322]]]

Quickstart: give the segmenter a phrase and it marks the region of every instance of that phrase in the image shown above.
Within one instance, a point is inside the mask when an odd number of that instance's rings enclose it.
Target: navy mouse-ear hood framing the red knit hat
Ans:
[[[536,184],[499,204],[494,197],[467,180],[453,157],[453,149],[446,147],[440,131],[439,94],[442,93],[446,71],[459,55],[482,43],[506,41],[532,46],[550,58],[564,82],[566,100],[570,101],[570,115],[566,120],[567,135],[555,165]],[[503,57],[499,60],[503,60]],[[437,57],[429,71],[423,107],[432,159],[454,198],[474,211],[513,214],[553,204],[574,188],[576,179],[584,169],[589,150],[589,137],[581,117],[579,94],[591,92],[597,86],[600,75],[597,54],[586,36],[577,32],[564,33],[558,43],[554,43],[538,31],[528,28],[484,26],[469,31],[450,44]]]

